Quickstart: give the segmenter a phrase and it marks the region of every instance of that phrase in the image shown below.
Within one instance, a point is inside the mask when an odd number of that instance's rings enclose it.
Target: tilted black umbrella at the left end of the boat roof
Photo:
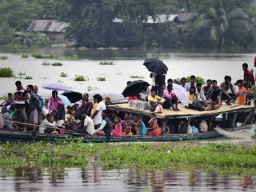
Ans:
[[[142,80],[137,80],[134,82],[130,82],[126,88],[122,91],[122,95],[126,98],[128,96],[138,95],[144,90],[145,87],[150,86],[149,83],[144,82]]]

